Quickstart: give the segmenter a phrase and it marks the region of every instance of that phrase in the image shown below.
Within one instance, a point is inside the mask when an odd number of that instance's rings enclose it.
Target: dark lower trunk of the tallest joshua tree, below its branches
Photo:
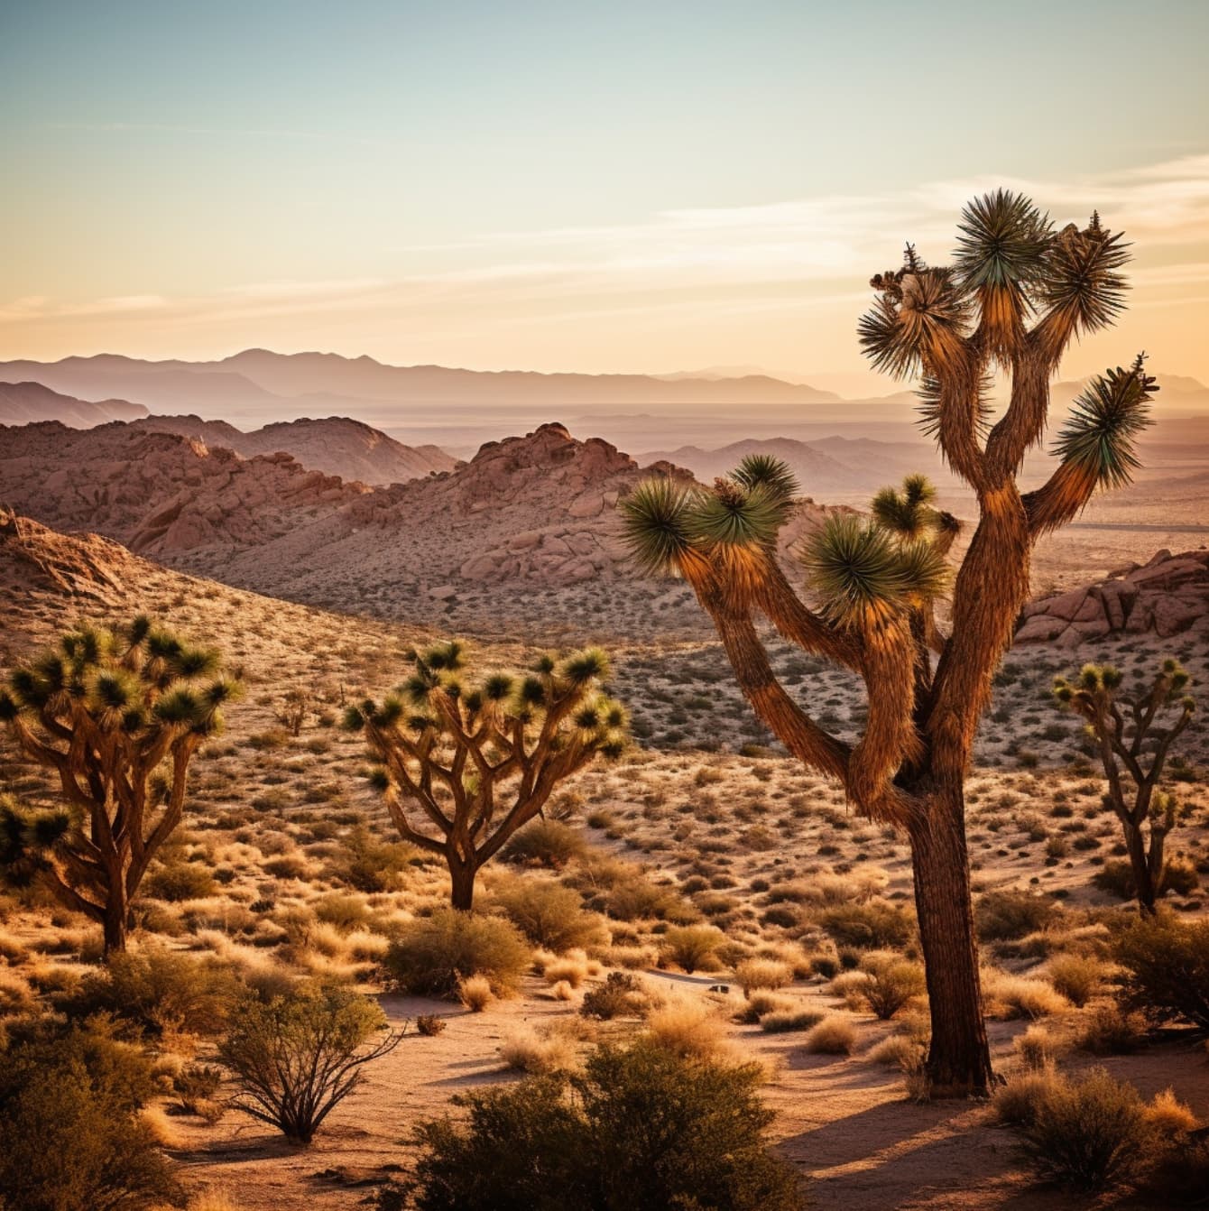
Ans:
[[[929,808],[927,819],[910,828],[932,1017],[927,1074],[933,1096],[960,1096],[985,1090],[991,1080],[961,784],[937,790]]]

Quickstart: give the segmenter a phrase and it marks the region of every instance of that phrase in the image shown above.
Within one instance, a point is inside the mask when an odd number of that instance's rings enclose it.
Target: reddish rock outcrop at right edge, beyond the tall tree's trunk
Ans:
[[[1170,638],[1209,630],[1209,550],[1159,551],[1107,580],[1025,606],[1015,643],[1077,647],[1119,635]]]

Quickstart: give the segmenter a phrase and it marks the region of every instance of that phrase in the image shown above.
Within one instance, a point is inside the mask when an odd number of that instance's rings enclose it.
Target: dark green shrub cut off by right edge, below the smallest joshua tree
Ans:
[[[1209,922],[1142,918],[1117,937],[1113,958],[1128,1008],[1209,1031]]]

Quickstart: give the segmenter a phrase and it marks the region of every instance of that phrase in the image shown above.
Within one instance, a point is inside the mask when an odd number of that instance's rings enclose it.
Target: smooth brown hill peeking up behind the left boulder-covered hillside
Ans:
[[[309,470],[369,484],[419,480],[433,471],[451,471],[456,465],[437,446],[404,446],[349,417],[282,420],[251,432],[225,420],[195,415],[146,417],[136,424],[150,432],[179,434],[207,446],[224,446],[246,459],[284,450]]]

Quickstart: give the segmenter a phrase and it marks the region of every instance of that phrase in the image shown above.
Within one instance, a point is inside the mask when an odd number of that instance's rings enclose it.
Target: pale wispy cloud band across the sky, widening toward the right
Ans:
[[[272,280],[172,298],[24,298],[0,306],[0,323],[108,316],[175,327],[363,312],[439,332],[451,322],[565,327],[617,316],[680,315],[687,322],[704,315],[793,316],[822,306],[850,312],[869,275],[897,263],[902,239],[944,260],[956,211],[998,185],[1027,193],[1057,223],[1084,223],[1099,208],[1110,226],[1124,229],[1136,246],[1139,305],[1192,303],[1209,285],[1209,155],[1197,155],[1065,182],[978,177],[880,194],[674,210],[629,224],[485,231],[392,249],[396,271],[381,276]]]

